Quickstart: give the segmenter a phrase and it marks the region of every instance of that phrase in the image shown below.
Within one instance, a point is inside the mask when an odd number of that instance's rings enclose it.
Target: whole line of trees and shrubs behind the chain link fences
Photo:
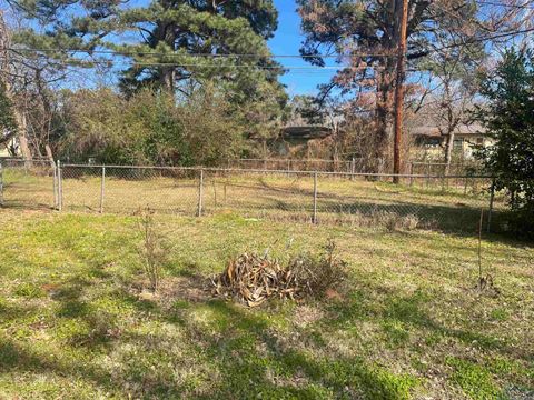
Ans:
[[[267,46],[278,23],[271,0],[7,2],[16,22],[3,47],[14,51],[2,52],[9,88],[2,107],[12,104],[18,129],[4,132],[27,139],[24,154],[43,156],[49,146],[56,158],[80,161],[216,162],[209,151],[191,150],[201,139],[224,147],[218,160],[264,157],[293,109],[307,123],[332,128],[324,157],[364,154],[369,170],[389,171],[398,0],[297,1],[305,60],[320,67],[334,58],[339,67],[318,96],[304,99],[305,108],[298,98],[288,104],[278,80],[284,69]],[[447,163],[454,130],[479,99],[478,77],[492,68],[490,50],[531,21],[527,3],[409,1],[405,107],[408,117],[422,109],[435,114],[447,138]],[[186,110],[202,101],[206,110],[196,113],[192,132],[185,128]],[[109,110],[101,106],[107,103]],[[212,121],[227,128],[227,138]],[[135,151],[119,151],[125,147],[118,143],[134,138]],[[161,144],[149,149],[151,141]]]

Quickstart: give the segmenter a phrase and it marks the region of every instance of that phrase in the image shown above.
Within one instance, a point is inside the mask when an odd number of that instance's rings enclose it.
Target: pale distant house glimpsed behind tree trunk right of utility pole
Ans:
[[[447,142],[447,136],[442,134],[445,129],[436,126],[419,126],[411,128],[415,144],[426,152],[436,156],[443,153]],[[465,158],[473,156],[475,146],[491,146],[493,140],[486,134],[485,129],[478,124],[459,124],[454,131],[453,151]]]

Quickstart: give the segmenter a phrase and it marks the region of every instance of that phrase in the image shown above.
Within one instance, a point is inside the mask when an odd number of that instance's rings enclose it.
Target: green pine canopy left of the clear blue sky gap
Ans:
[[[44,27],[19,30],[17,42],[52,50],[48,57],[75,64],[119,64],[127,92],[147,83],[188,92],[214,78],[236,101],[243,100],[243,92],[256,92],[261,82],[283,91],[277,82],[281,69],[266,43],[277,27],[270,0],[154,0],[138,7],[117,0],[12,2]],[[92,52],[102,49],[111,53]]]

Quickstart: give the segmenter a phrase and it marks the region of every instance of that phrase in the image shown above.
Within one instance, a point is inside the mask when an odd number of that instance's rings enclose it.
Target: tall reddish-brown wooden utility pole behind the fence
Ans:
[[[395,84],[395,142],[393,149],[393,178],[394,183],[399,183],[400,174],[400,144],[403,142],[403,111],[404,111],[404,76],[406,58],[406,34],[408,26],[408,0],[394,0],[395,13],[398,26],[397,44],[397,79]]]

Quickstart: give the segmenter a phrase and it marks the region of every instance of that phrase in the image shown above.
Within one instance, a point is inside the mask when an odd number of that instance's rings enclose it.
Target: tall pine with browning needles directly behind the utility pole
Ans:
[[[395,47],[398,42],[399,0],[298,0],[306,34],[301,53],[314,64],[324,66],[322,54],[336,56],[342,64],[322,94],[335,89],[357,96],[375,93],[376,157],[384,157],[395,90]],[[531,3],[526,1],[526,3]],[[481,3],[483,4],[483,3]],[[514,7],[515,6],[515,7]],[[484,8],[481,12],[481,8]],[[479,6],[472,0],[411,0],[408,10],[408,64],[417,69],[422,59],[442,51],[436,34],[456,23],[469,41],[495,32],[510,32],[531,21],[525,1],[506,1],[506,7]],[[455,42],[462,46],[465,42]]]

